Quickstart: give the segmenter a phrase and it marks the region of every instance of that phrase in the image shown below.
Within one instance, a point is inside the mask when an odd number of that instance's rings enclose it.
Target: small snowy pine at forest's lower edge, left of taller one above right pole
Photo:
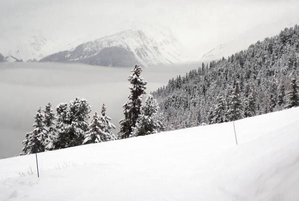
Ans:
[[[211,124],[218,124],[225,122],[226,101],[223,96],[217,96],[216,104],[213,107],[211,115]]]

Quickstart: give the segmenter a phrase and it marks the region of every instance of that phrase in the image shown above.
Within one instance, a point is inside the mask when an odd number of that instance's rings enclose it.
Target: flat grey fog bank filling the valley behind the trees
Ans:
[[[166,84],[169,78],[197,67],[198,64],[188,64],[144,68],[147,93]],[[58,103],[78,96],[89,101],[92,113],[100,111],[105,103],[108,115],[118,127],[123,118],[122,105],[129,95],[127,79],[132,68],[0,63],[0,158],[20,153],[26,132],[32,131],[35,111],[48,102],[55,110]]]

